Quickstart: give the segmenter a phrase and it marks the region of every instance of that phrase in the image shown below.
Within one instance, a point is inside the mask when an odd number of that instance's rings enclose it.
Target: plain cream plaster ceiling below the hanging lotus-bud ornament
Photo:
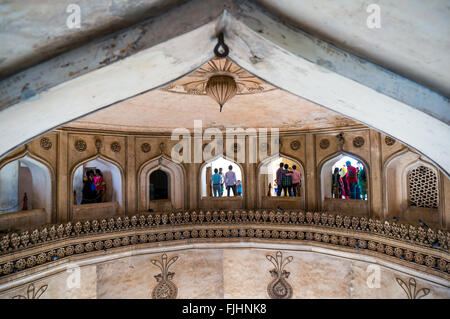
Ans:
[[[151,91],[98,111],[66,127],[134,132],[203,128],[278,128],[280,131],[360,126],[358,122],[282,90],[237,95],[222,112],[206,95]]]

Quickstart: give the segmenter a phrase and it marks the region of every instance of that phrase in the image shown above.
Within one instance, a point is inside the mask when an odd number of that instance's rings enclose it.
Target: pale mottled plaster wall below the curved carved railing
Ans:
[[[256,245],[255,245],[256,246]],[[410,279],[430,292],[425,298],[450,298],[449,283],[424,277],[389,264],[379,264],[374,258],[361,258],[355,254],[330,254],[311,248],[293,247],[174,247],[169,251],[137,251],[110,253],[101,258],[60,265],[59,270],[49,267],[49,276],[29,275],[13,287],[1,285],[0,298],[9,299],[27,295],[32,283],[35,291],[47,286],[40,296],[46,298],[138,298],[149,299],[157,286],[154,276],[161,270],[152,260],[161,261],[163,253],[168,259],[178,257],[169,267],[172,282],[177,287],[179,299],[255,298],[267,299],[268,285],[274,280],[270,271],[274,265],[267,259],[277,251],[285,259],[292,256],[284,270],[294,299],[314,298],[399,298],[407,294],[397,282],[408,284]],[[74,265],[79,265],[79,287],[70,286]],[[58,268],[54,266],[53,268]],[[377,280],[371,281],[376,273]]]

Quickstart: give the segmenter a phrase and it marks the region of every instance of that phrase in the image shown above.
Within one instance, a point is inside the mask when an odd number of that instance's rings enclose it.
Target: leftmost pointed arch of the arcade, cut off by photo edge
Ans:
[[[56,222],[56,174],[53,166],[44,158],[31,152],[28,147],[24,151],[11,156],[4,161],[0,162],[0,170],[6,165],[23,160],[28,162],[32,176],[36,174],[40,175],[38,184],[32,182],[32,199],[39,197],[36,208],[43,208],[46,212],[46,222]],[[37,165],[33,165],[37,164]],[[42,192],[43,191],[43,192]],[[37,194],[39,193],[39,194]],[[33,196],[34,195],[34,196]],[[33,205],[34,207],[35,205]]]

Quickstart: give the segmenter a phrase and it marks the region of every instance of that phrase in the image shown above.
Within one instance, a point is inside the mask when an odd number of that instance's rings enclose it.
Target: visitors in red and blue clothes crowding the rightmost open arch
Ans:
[[[336,167],[332,176],[331,192],[333,198],[367,199],[367,175],[361,162],[358,167],[350,161],[341,168]]]

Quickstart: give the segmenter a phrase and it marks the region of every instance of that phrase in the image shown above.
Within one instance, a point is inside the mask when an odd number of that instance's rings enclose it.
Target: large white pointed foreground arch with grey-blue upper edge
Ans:
[[[1,132],[3,136],[14,137],[4,145],[0,144],[2,154],[49,128],[157,87],[193,70],[211,56],[217,23],[221,25],[225,22],[226,41],[231,46],[230,57],[242,67],[296,95],[397,137],[426,153],[448,172],[450,156],[443,153],[450,149],[446,144],[450,139],[445,138],[450,134],[447,125],[448,99],[376,65],[361,62],[359,58],[318,39],[311,39],[301,30],[286,26],[283,21],[267,15],[249,2],[219,2],[210,7],[204,3],[192,1],[183,7],[184,10],[190,10],[192,15],[174,9],[170,14],[147,21],[145,27],[141,25],[127,29],[121,33],[126,38],[124,42],[116,34],[32,68],[14,79],[3,81],[4,106],[26,98],[25,102],[4,110],[3,118],[18,117],[21,125],[27,125],[29,130],[14,131],[15,128],[10,126],[9,130]],[[211,5],[210,2],[208,4]],[[226,18],[214,20],[224,7],[228,12]],[[210,8],[215,11],[208,10]],[[201,15],[203,10],[207,10],[208,15]],[[181,16],[183,19],[176,19]],[[178,24],[174,25],[174,21]],[[164,27],[168,24],[172,28],[167,34],[155,36],[150,31],[156,25],[166,30]],[[197,29],[185,33],[194,28]],[[175,38],[178,46],[168,41]],[[187,50],[181,42],[195,43],[196,47]],[[130,44],[132,49],[128,51],[126,48]],[[116,54],[113,49],[111,53],[113,45],[125,51]],[[144,51],[158,58],[152,59],[149,64],[148,59],[142,59]],[[182,57],[180,52],[184,53]],[[209,55],[205,52],[209,52]],[[324,54],[331,64],[318,62],[317,58],[324,60]],[[167,56],[171,58],[167,59]],[[73,59],[77,60],[74,69],[65,74],[66,71],[61,71],[60,67]],[[111,68],[113,66],[116,67]],[[153,67],[148,69],[150,66],[159,66],[164,72],[159,73]],[[96,71],[92,71],[94,69]],[[124,73],[124,69],[129,72]],[[134,73],[131,72],[133,70]],[[144,70],[147,72],[144,73]],[[151,71],[155,73],[150,74]],[[117,86],[118,74],[123,80],[120,86]],[[127,81],[123,79],[123,74],[128,75]],[[46,83],[33,80],[37,75],[44,78]],[[74,75],[79,77],[73,79]],[[64,81],[64,84],[58,85]],[[96,88],[95,93],[93,87]],[[46,89],[48,91],[43,92]],[[71,94],[68,95],[65,90]],[[110,94],[105,95],[106,91]],[[42,93],[32,97],[39,92]],[[50,100],[53,100],[52,103],[48,103]],[[72,102],[77,105],[72,105]],[[37,105],[42,103],[45,104],[45,111],[38,110]],[[68,108],[64,115],[56,112],[61,111],[61,105]],[[40,124],[36,124],[34,122],[39,114],[54,114],[54,117],[41,118],[42,121],[38,121]],[[433,136],[438,134],[444,138],[434,139]]]

